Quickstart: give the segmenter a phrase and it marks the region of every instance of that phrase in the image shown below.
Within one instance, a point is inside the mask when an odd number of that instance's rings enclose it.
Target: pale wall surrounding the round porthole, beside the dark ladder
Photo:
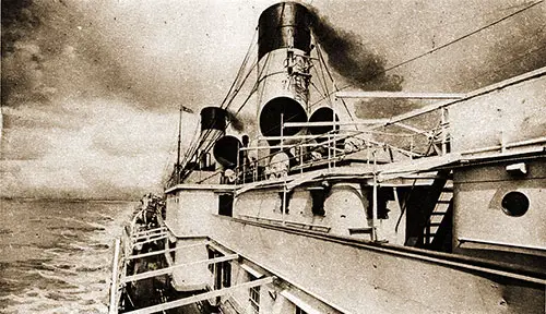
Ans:
[[[458,170],[454,174],[454,246],[456,238],[546,247],[546,162],[527,161],[529,174],[513,178],[507,164]],[[502,197],[519,191],[530,200],[527,213],[512,217]]]

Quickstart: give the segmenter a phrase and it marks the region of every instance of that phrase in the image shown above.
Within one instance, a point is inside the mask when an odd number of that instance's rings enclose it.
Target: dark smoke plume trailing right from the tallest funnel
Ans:
[[[311,9],[311,28],[328,55],[328,63],[351,84],[366,90],[402,90],[403,77],[387,75],[385,60],[363,44],[359,36],[336,29]]]

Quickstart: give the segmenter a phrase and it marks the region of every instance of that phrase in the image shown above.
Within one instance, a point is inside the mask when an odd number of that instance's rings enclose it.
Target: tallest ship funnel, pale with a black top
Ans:
[[[264,136],[281,135],[281,119],[307,122],[310,22],[308,9],[294,2],[274,4],[260,15],[258,120]],[[288,128],[283,135],[295,135],[301,130]]]

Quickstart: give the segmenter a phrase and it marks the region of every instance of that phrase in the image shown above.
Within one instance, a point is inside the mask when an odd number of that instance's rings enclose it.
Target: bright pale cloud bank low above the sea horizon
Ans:
[[[176,116],[147,114],[119,100],[78,106],[87,117],[79,129],[43,129],[38,137],[36,129],[10,129],[7,137],[16,145],[3,147],[10,158],[2,162],[2,195],[127,198],[161,191],[176,147]],[[188,138],[195,119],[187,120]]]

